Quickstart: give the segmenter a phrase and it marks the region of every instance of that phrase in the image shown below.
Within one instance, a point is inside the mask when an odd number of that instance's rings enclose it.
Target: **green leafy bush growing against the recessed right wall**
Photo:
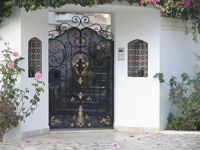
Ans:
[[[177,116],[169,114],[167,129],[200,130],[200,72],[193,77],[183,73],[180,81],[172,76],[169,82],[166,82],[162,73],[156,74],[154,78],[169,85],[169,98],[178,113]]]

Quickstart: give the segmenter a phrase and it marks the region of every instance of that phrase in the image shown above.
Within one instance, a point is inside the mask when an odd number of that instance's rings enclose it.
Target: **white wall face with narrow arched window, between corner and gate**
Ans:
[[[38,132],[47,131],[48,126],[48,12],[40,10],[26,13],[21,11],[21,47],[22,56],[28,60],[28,41],[34,37],[42,41],[42,81],[45,82],[45,93],[42,93],[39,107],[33,115],[26,119],[26,123],[22,124],[23,136],[38,134]],[[26,72],[22,75],[23,87],[31,89],[33,78],[28,78],[28,61],[23,64]],[[33,93],[30,93],[30,96]],[[39,131],[40,130],[40,131]],[[32,131],[35,131],[33,133]]]

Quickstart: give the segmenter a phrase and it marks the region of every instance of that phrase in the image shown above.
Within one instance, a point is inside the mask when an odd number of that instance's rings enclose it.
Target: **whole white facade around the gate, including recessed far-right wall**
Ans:
[[[42,80],[45,93],[37,110],[25,123],[13,129],[5,140],[44,134],[49,131],[49,37],[48,12],[105,13],[111,15],[111,32],[114,35],[114,107],[113,129],[127,132],[159,132],[166,127],[169,112],[169,89],[153,79],[162,72],[169,78],[182,72],[195,71],[195,55],[200,44],[192,35],[184,33],[185,26],[180,20],[161,17],[153,8],[113,3],[96,7],[65,5],[59,9],[39,10],[26,13],[13,10],[13,15],[0,24],[0,42],[9,42],[25,60],[22,67],[20,86],[31,89],[32,78],[28,77],[28,43],[36,37],[42,42]],[[148,44],[148,75],[128,76],[128,44],[134,40]],[[3,49],[2,44],[0,48]],[[119,59],[121,51],[124,59]],[[123,57],[123,54],[122,54]],[[13,136],[15,134],[15,136]]]

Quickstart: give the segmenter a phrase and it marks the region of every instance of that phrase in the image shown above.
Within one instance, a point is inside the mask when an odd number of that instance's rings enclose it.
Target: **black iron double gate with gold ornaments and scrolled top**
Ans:
[[[49,32],[49,125],[112,128],[113,34],[74,16]]]

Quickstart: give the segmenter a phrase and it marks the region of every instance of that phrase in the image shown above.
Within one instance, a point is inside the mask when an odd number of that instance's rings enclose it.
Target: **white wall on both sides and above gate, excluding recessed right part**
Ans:
[[[19,11],[19,10],[18,10]],[[28,58],[28,41],[37,37],[42,41],[42,80],[46,83],[38,109],[20,126],[20,137],[48,131],[48,12],[46,10],[13,13],[5,27],[0,29],[3,41],[12,43],[12,48]],[[160,128],[160,87],[154,80],[160,72],[160,13],[152,8],[126,6],[119,3],[97,7],[67,5],[49,11],[111,13],[112,32],[115,36],[115,121],[114,128],[120,131],[158,131]],[[2,24],[3,25],[3,24]],[[14,29],[14,30],[13,30]],[[148,77],[128,77],[128,43],[140,39],[148,43]],[[125,49],[125,60],[118,60],[118,48]],[[23,67],[28,69],[28,62]],[[26,71],[21,78],[22,87],[30,87],[33,79]],[[14,132],[10,132],[11,136]],[[16,138],[16,136],[13,136]],[[17,137],[17,138],[20,138]]]

